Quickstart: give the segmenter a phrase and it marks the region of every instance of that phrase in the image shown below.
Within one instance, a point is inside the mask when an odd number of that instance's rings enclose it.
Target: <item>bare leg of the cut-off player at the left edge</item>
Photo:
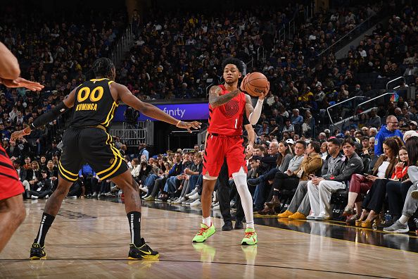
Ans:
[[[25,220],[25,216],[22,194],[0,201],[0,252]]]

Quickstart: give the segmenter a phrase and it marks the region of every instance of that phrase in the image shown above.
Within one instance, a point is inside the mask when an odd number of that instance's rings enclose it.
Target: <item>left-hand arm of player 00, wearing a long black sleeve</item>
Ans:
[[[36,128],[39,128],[46,123],[51,122],[52,120],[55,120],[58,118],[58,116],[61,116],[61,114],[65,113],[65,111],[68,111],[68,109],[72,108],[74,106],[74,100],[75,100],[75,89],[72,90],[72,92],[68,95],[66,99],[64,99],[60,104],[55,106],[51,111],[48,111],[47,113],[42,114],[41,116],[37,117],[32,124],[27,126],[25,129],[13,132],[11,135],[11,142],[15,142],[16,139],[19,137],[23,137],[25,135],[30,135],[30,132],[32,130],[35,130]]]

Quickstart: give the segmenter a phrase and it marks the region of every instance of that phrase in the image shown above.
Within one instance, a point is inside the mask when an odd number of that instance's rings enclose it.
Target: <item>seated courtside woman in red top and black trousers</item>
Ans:
[[[379,223],[379,213],[386,197],[386,185],[388,182],[401,182],[407,179],[408,154],[405,147],[400,147],[399,162],[395,166],[395,171],[390,179],[376,179],[372,188],[367,193],[363,201],[362,215],[355,225],[362,228],[372,228],[372,223],[376,219]]]

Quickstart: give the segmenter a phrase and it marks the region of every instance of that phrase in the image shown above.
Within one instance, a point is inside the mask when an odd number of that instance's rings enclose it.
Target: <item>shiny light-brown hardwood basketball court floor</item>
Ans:
[[[401,243],[389,249],[360,243],[374,237],[367,230],[354,229],[355,241],[346,241],[321,236],[334,228],[329,223],[284,221],[287,230],[257,225],[259,244],[241,247],[243,230],[222,232],[222,221],[215,218],[217,233],[205,244],[191,244],[200,216],[151,207],[142,211],[142,235],[160,260],[129,261],[125,207],[96,199],[66,199],[46,237],[48,259],[30,261],[44,204],[26,202],[27,218],[0,254],[0,278],[417,278],[418,273],[418,254],[403,249],[402,243],[418,241],[408,235],[382,234]],[[289,230],[306,224],[310,232]]]

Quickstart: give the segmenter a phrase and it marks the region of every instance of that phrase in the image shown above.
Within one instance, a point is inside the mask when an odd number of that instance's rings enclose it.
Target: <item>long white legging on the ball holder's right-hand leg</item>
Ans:
[[[247,228],[254,228],[253,198],[248,190],[247,175],[243,171],[241,173],[241,170],[239,173],[232,173],[232,178],[234,178],[236,191],[238,191],[239,197],[241,197],[241,205],[246,216]]]

